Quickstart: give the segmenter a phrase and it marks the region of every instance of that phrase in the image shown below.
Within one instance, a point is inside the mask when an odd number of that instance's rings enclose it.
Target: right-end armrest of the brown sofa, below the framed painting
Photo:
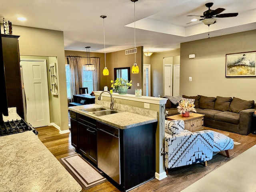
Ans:
[[[254,109],[242,110],[239,113],[239,134],[248,135],[252,132],[252,114]]]

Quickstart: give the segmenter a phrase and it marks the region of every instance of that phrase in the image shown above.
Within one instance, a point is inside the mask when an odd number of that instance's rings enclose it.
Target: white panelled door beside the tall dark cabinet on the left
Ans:
[[[21,60],[27,122],[34,128],[50,125],[46,60]]]

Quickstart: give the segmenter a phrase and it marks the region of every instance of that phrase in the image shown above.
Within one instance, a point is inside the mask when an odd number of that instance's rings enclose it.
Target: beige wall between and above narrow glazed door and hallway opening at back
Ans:
[[[143,56],[143,64],[150,64],[151,70],[151,96],[164,96],[164,65],[163,59],[180,55],[180,49],[153,53],[150,57]]]

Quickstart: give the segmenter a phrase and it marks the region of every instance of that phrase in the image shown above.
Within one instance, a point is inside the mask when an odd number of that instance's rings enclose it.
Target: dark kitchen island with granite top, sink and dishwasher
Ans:
[[[124,105],[112,114],[92,112],[107,106],[69,107],[71,142],[114,186],[127,192],[154,178],[158,112]]]

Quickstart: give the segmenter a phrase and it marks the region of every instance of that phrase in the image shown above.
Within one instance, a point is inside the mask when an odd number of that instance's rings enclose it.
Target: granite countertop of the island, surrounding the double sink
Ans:
[[[72,107],[69,107],[68,109],[120,129],[132,128],[132,127],[158,121],[157,118],[152,118],[149,116],[144,116],[144,115],[140,115],[132,112],[126,112],[126,111],[120,111],[118,113],[104,115],[104,116],[96,116],[92,113],[82,111],[82,109],[93,108],[93,107],[102,107],[102,105],[88,104],[88,105],[72,106]],[[104,108],[106,107],[104,106]]]

